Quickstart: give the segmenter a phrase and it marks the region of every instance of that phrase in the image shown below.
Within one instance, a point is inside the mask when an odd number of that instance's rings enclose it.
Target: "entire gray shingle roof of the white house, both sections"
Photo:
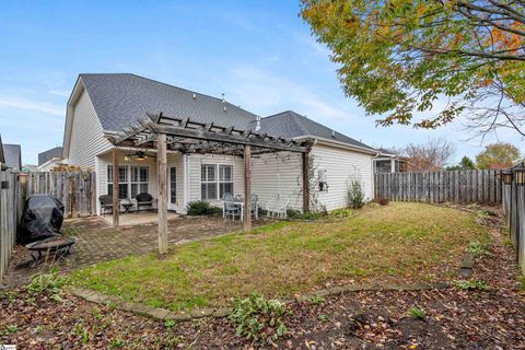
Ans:
[[[222,98],[211,97],[130,73],[80,74],[105,131],[120,131],[147,113],[190,118],[238,129],[254,129],[256,115]],[[225,112],[224,112],[225,107]],[[287,110],[261,119],[262,130],[282,137],[318,137],[373,148]],[[374,150],[375,151],[375,150]],[[39,162],[38,162],[39,163]]]

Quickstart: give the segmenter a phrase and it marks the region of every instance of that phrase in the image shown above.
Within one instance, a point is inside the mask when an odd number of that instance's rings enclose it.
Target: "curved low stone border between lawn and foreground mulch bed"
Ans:
[[[312,294],[304,294],[296,298],[279,299],[284,304],[291,304],[295,302],[306,302],[314,296],[331,296],[341,295],[347,292],[366,292],[366,291],[427,291],[433,289],[446,289],[451,283],[407,283],[407,284],[348,284],[342,287],[334,287],[329,289],[322,289]],[[115,308],[130,312],[139,316],[147,316],[158,320],[173,319],[175,322],[187,322],[191,319],[202,317],[226,317],[231,314],[232,307],[218,307],[218,308],[196,308],[189,312],[172,312],[162,307],[148,306],[140,303],[131,303],[119,300],[116,296],[102,294],[89,289],[74,288],[71,293],[88,302],[107,305],[113,304]]]

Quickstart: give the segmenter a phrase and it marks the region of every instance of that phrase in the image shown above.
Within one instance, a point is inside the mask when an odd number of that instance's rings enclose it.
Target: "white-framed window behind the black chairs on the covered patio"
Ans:
[[[118,166],[118,198],[132,199],[140,192],[150,190],[150,168],[148,166]],[[107,165],[107,194],[113,196],[113,165]]]

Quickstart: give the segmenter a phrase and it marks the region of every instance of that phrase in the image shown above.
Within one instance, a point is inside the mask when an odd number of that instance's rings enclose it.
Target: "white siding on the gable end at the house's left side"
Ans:
[[[95,108],[85,92],[81,93],[72,113],[71,142],[68,162],[83,170],[95,167],[95,156],[112,148],[103,135]]]

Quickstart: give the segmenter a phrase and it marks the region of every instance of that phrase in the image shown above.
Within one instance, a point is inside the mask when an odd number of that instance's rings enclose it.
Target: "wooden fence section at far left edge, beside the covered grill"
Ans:
[[[16,243],[16,226],[22,217],[22,186],[16,173],[0,171],[0,282],[8,269],[13,246]]]

